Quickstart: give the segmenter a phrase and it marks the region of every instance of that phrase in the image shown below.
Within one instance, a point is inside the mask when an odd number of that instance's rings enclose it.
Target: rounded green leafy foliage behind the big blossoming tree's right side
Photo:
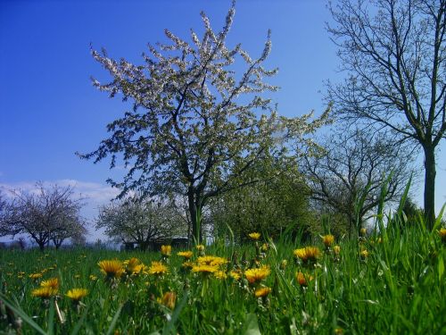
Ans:
[[[235,240],[243,242],[252,231],[265,231],[278,239],[285,230],[295,238],[299,230],[310,229],[314,221],[310,191],[294,163],[262,161],[244,178],[264,181],[228,192],[211,203],[215,235],[227,233],[229,226]]]

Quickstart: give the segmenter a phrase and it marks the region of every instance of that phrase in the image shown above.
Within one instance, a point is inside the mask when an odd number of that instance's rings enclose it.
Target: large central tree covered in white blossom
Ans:
[[[133,111],[108,125],[111,137],[97,150],[80,156],[97,163],[111,155],[112,168],[122,155],[128,174],[120,182],[108,180],[122,197],[129,190],[185,195],[196,242],[202,239],[200,213],[209,198],[255,182],[240,182],[240,177],[263,155],[280,155],[277,143],[284,141],[278,139],[301,138],[326,119],[326,114],[311,122],[310,115],[277,116],[270,98],[260,96],[277,90],[263,80],[277,72],[262,66],[271,49],[270,34],[259,58],[240,44],[227,47],[234,14],[233,4],[216,33],[202,13],[204,34],[199,38],[191,30],[190,43],[166,29],[169,44],[149,45],[144,65],[118,62],[104,50],[92,52],[112,77],[108,83],[94,80],[95,87],[110,96],[121,94],[133,102]],[[239,76],[235,59],[244,63]]]

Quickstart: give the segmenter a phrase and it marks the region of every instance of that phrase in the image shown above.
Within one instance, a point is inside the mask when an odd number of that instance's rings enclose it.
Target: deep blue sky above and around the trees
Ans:
[[[105,180],[123,170],[81,161],[74,153],[94,150],[107,135],[105,125],[126,105],[92,87],[90,76],[108,77],[91,57],[90,43],[104,46],[113,58],[142,63],[146,44],[163,40],[163,29],[190,40],[189,29],[202,29],[201,10],[219,29],[229,5],[219,0],[0,2],[0,186],[75,183],[90,198],[85,214],[92,218],[95,207],[116,194]],[[279,68],[271,80],[281,87],[273,96],[279,113],[320,113],[324,80],[342,78],[325,30],[326,1],[239,0],[235,8],[230,46],[241,42],[259,55],[272,30],[268,65]],[[440,160],[437,207],[445,200],[445,166]]]

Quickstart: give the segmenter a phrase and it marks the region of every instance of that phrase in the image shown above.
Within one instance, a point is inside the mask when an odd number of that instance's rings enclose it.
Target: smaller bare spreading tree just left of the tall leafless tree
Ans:
[[[310,183],[311,197],[343,214],[351,235],[379,204],[382,185],[389,176],[384,200],[400,196],[411,175],[409,155],[388,138],[359,130],[340,131],[326,138],[322,146],[318,155],[303,156],[301,169]],[[359,206],[361,198],[364,202]]]

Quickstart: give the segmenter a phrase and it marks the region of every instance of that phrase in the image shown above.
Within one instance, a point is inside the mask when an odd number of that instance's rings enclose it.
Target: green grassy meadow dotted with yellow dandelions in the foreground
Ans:
[[[218,240],[186,265],[185,250],[2,250],[0,333],[446,334],[439,228],[325,242]]]

